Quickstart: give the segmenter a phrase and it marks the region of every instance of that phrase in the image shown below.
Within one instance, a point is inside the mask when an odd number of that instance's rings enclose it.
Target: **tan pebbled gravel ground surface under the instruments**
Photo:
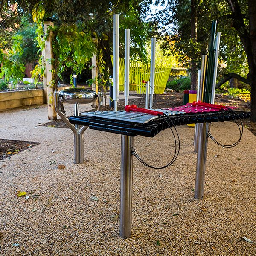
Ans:
[[[88,129],[85,163],[75,165],[72,132],[38,126],[45,122],[46,105],[0,113],[1,139],[41,143],[0,161],[0,255],[256,255],[256,137],[247,129],[235,148],[209,141],[201,201],[193,197],[193,128],[177,128],[181,150],[173,166],[148,169],[134,159],[132,236],[124,240],[120,135]],[[223,143],[238,136],[231,122],[215,123],[211,132]],[[135,137],[134,145],[148,163],[172,157],[168,130]]]

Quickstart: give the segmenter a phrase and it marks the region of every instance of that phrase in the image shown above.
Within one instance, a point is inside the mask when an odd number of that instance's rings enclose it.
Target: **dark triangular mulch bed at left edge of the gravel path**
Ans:
[[[17,154],[23,150],[29,150],[33,146],[40,144],[39,142],[29,142],[20,140],[3,140],[0,139],[0,160]]]

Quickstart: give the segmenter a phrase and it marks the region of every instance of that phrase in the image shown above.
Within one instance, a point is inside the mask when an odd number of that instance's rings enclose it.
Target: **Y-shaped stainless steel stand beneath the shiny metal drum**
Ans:
[[[84,163],[84,131],[88,128],[88,126],[78,125],[77,128],[75,125],[71,124],[67,118],[67,116],[61,111],[60,101],[59,101],[59,93],[58,91],[54,92],[54,101],[55,101],[55,111],[61,117],[61,119],[67,124],[67,126],[73,131],[74,134],[74,154],[75,159],[74,163]],[[79,115],[78,103],[75,103],[75,115]]]

